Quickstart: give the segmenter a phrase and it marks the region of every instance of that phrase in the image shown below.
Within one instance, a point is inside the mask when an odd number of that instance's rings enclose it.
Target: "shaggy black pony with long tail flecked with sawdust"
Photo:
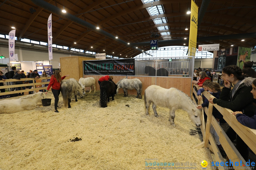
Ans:
[[[109,96],[114,96],[116,94],[117,85],[112,81],[102,81],[100,84],[100,107],[108,107],[107,100],[109,101]]]

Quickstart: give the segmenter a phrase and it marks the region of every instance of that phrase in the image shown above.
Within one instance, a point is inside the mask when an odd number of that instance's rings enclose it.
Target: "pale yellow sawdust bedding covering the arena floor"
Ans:
[[[157,118],[151,107],[146,116],[144,100],[134,95],[116,95],[100,108],[96,91],[65,108],[60,94],[59,113],[52,93],[47,97],[51,106],[0,114],[0,169],[171,168],[146,166],[154,161],[201,169],[210,160],[207,149],[195,148],[201,136],[183,110],[176,111],[174,127],[167,108],[157,107]]]

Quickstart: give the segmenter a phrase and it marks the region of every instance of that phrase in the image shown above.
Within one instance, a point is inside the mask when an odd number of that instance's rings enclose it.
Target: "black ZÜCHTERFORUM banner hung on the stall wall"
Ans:
[[[83,61],[83,74],[135,75],[135,59]]]

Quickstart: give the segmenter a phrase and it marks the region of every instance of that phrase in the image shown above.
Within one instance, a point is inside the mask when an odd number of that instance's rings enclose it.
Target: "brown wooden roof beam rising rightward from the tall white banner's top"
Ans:
[[[78,18],[81,17],[83,15],[84,12],[88,12],[89,10],[91,10],[92,8],[102,4],[103,2],[106,2],[106,0],[98,0],[93,2],[92,4],[90,4],[89,6],[87,6],[86,8],[82,9],[81,11],[79,11],[79,15],[77,16]],[[53,36],[53,41],[56,40],[56,38],[72,23],[73,21],[69,20],[68,22],[66,22],[65,25],[63,25],[63,27],[61,27],[61,29],[59,29]]]

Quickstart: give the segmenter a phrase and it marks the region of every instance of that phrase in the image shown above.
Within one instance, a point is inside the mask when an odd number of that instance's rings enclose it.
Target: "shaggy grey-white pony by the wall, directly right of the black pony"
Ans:
[[[121,79],[117,83],[117,89],[116,89],[116,94],[118,94],[118,89],[122,88],[124,90],[124,97],[127,96],[127,89],[132,90],[135,89],[137,90],[137,96],[136,98],[141,99],[141,90],[142,90],[142,82],[140,79]]]

